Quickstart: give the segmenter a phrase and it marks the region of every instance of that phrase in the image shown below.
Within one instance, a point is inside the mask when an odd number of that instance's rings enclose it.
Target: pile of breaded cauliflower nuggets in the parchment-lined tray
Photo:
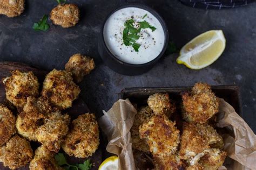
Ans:
[[[152,155],[156,169],[218,169],[226,158],[223,138],[211,121],[218,112],[219,99],[208,84],[196,83],[182,100],[184,121],[175,118],[178,109],[169,94],[148,98],[131,129],[134,153]]]

